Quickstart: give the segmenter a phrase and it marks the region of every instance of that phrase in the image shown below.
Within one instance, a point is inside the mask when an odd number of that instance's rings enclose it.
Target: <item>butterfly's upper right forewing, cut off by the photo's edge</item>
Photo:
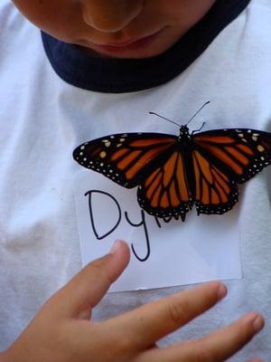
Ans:
[[[243,183],[271,164],[270,133],[257,129],[214,129],[193,136],[205,154],[231,180]]]

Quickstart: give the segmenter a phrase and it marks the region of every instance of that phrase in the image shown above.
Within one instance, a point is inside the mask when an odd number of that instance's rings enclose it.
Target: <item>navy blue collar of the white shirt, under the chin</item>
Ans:
[[[146,59],[93,57],[77,45],[61,42],[42,32],[52,68],[66,81],[85,90],[124,93],[146,90],[173,80],[210,45],[250,0],[217,0],[209,13],[185,33],[171,49]],[[230,54],[229,54],[230,55]]]

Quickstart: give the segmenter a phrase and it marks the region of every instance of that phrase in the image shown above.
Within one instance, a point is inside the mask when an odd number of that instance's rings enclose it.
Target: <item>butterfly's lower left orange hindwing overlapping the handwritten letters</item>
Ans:
[[[179,150],[175,150],[140,183],[137,198],[148,214],[158,217],[181,216],[184,221],[193,201],[184,159]]]

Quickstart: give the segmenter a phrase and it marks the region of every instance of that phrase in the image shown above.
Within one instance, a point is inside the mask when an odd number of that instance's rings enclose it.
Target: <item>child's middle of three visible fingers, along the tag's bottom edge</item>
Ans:
[[[227,293],[220,281],[182,291],[107,320],[116,330],[116,338],[129,341],[136,348],[148,348],[158,339],[178,329],[210,309]]]

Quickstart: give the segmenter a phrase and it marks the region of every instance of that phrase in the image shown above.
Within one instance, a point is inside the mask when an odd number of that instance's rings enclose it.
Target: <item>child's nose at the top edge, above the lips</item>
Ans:
[[[98,31],[116,33],[142,12],[145,0],[85,0],[84,21]]]

